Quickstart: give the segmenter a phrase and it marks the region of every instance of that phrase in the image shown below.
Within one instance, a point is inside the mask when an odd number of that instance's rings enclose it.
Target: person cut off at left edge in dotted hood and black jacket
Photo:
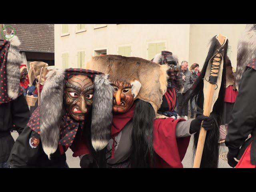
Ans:
[[[29,109],[20,87],[20,64],[17,36],[0,40],[0,168],[6,168],[14,145],[10,131],[21,134],[29,120]]]

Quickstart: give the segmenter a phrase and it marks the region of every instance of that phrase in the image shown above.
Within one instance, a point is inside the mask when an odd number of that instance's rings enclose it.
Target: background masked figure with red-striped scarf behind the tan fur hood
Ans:
[[[156,54],[151,61],[160,65],[168,64],[169,66],[167,70],[169,76],[167,90],[162,97],[163,101],[158,113],[177,119],[177,112],[175,111],[177,103],[176,94],[184,90],[184,81],[182,80],[178,58],[172,55],[172,52],[162,51],[161,54]]]

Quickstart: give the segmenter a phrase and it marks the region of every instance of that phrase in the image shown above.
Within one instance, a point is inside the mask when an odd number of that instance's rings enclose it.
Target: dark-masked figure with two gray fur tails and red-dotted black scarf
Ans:
[[[48,72],[40,106],[17,138],[8,162],[11,168],[66,168],[65,152],[92,129],[92,146],[103,149],[112,122],[113,88],[108,76],[85,69]]]

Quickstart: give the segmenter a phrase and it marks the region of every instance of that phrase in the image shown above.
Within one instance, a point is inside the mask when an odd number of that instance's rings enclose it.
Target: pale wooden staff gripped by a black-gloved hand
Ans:
[[[223,45],[224,41],[225,41],[225,36],[223,36],[222,34],[219,34],[217,38],[218,38],[220,44]],[[218,54],[216,54],[216,56],[217,57],[214,58],[215,61],[213,61],[212,64],[219,66],[220,62],[218,62],[218,61],[221,60],[221,55],[220,55],[220,53],[218,53]],[[218,58],[218,57],[220,57],[220,58]],[[219,68],[212,69],[211,71],[214,73],[216,72],[216,74],[212,74],[212,76],[218,76]],[[215,87],[216,87],[215,84],[209,84],[209,86],[208,86],[208,90],[206,92],[206,100],[204,100],[204,104],[205,104],[204,113],[203,113],[204,116],[210,116],[211,108],[212,108],[212,99],[213,99]],[[202,154],[203,154],[203,150],[204,150],[205,137],[206,137],[206,130],[202,127],[202,124],[201,124],[193,168],[200,168],[200,163],[201,163]]]

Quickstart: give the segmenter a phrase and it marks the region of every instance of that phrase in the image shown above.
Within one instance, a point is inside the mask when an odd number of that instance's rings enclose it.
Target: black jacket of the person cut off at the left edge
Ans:
[[[29,108],[23,94],[16,100],[0,104],[0,162],[7,161],[14,144],[10,130],[21,134],[28,120]]]

